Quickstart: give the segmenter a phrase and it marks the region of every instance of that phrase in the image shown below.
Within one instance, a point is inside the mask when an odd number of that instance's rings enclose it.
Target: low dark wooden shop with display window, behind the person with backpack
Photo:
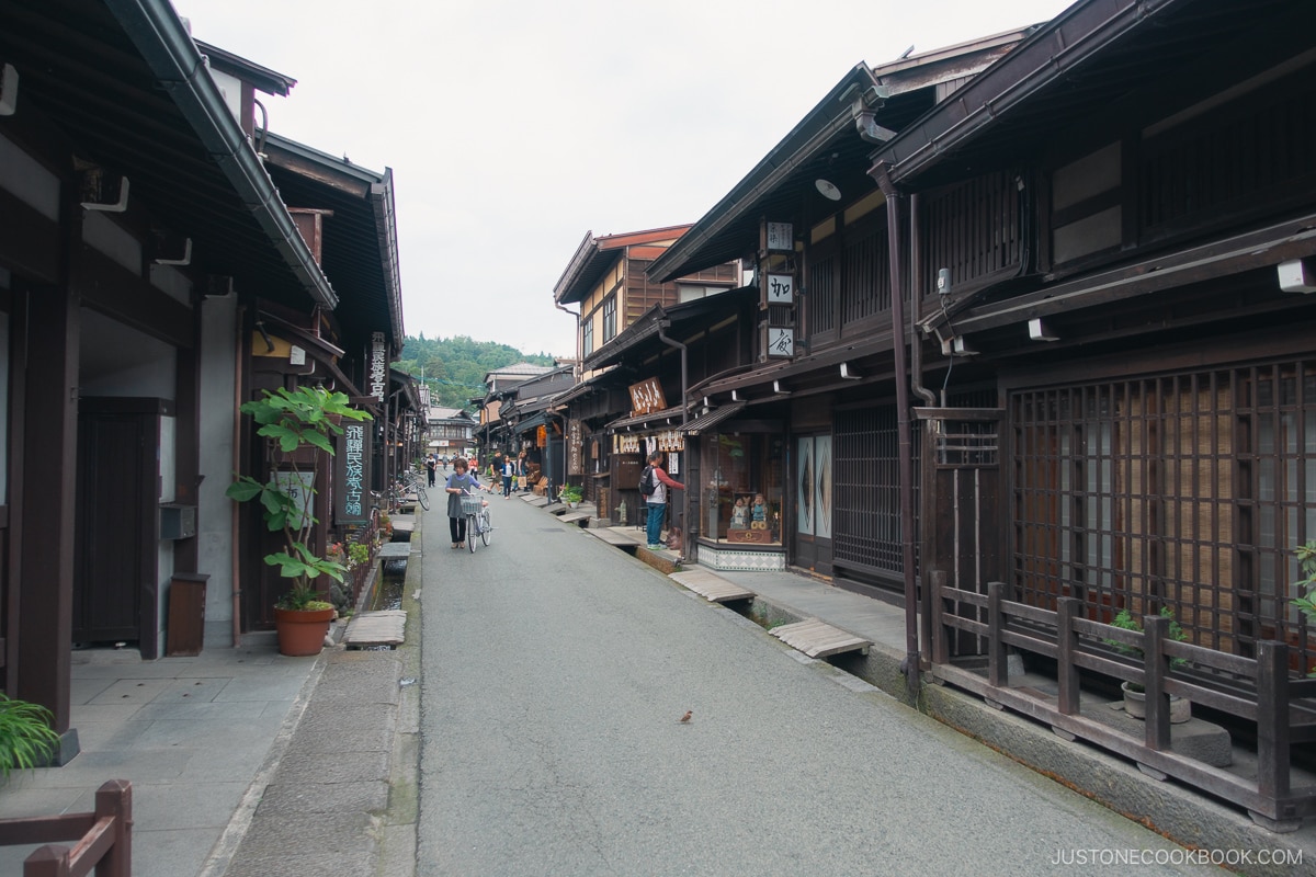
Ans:
[[[765,521],[775,523],[782,477],[774,471],[771,439],[782,423],[734,419],[742,405],[716,409],[700,402],[699,387],[753,362],[757,291],[747,287],[654,305],[634,323],[587,356],[584,367],[597,373],[599,387],[613,383],[629,398],[629,410],[592,425],[582,442],[582,469],[596,483],[596,496],[619,523],[644,523],[645,497],[640,473],[649,452],[663,451],[669,473],[684,485],[669,497],[669,547],[688,560],[719,569],[779,569],[779,530],[750,527],[755,493],[763,494]],[[701,437],[722,425],[713,444]],[[736,509],[742,509],[744,522]],[[622,513],[625,510],[625,513]],[[750,538],[750,534],[755,538]],[[757,536],[762,538],[757,538]],[[746,550],[751,548],[751,550]]]

